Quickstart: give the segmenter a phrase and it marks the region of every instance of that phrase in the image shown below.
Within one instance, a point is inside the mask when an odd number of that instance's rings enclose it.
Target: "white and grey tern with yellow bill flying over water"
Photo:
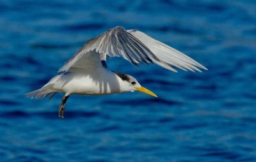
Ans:
[[[51,78],[42,88],[29,92],[26,96],[36,99],[49,96],[51,99],[56,92],[65,93],[59,107],[61,118],[71,94],[102,95],[141,91],[157,97],[131,75],[109,70],[106,64],[107,55],[122,56],[134,66],[139,63],[154,63],[172,71],[177,71],[175,67],[185,71],[201,71],[199,68],[207,70],[187,55],[141,31],[125,30],[117,26],[87,41],[60,68],[60,75]]]

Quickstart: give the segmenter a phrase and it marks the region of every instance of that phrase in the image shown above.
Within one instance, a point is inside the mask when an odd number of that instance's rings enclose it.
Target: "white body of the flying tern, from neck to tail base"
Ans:
[[[93,71],[73,70],[54,84],[54,89],[68,94],[113,94],[124,92],[124,81],[112,71],[101,68]]]

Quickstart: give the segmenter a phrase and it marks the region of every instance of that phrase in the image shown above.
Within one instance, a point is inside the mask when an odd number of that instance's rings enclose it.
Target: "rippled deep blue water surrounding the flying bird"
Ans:
[[[139,29],[209,68],[136,68],[155,92],[33,100],[83,44],[115,26]],[[256,161],[255,1],[0,2],[1,161]]]

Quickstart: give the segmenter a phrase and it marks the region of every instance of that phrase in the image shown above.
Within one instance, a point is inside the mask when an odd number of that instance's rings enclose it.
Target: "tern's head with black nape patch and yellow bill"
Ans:
[[[122,73],[118,73],[115,72],[116,75],[118,75],[118,77],[120,77],[124,83],[125,83],[125,87],[127,87],[127,91],[140,91],[140,92],[144,92],[146,94],[149,94],[151,96],[154,96],[157,98],[156,94],[154,94],[154,92],[149,91],[148,89],[146,89],[145,87],[142,87],[140,85],[140,83],[136,80],[136,78],[132,77],[131,75],[127,75],[127,74],[122,74]]]

